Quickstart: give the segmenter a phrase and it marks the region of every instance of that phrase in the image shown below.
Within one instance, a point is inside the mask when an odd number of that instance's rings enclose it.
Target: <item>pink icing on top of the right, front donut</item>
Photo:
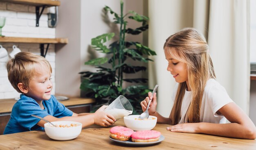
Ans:
[[[133,139],[155,139],[160,137],[161,133],[155,130],[141,130],[132,133]]]

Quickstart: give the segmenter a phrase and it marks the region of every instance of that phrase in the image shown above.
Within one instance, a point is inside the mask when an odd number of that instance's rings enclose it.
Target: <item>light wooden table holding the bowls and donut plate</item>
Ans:
[[[124,126],[124,120],[118,120],[115,126]],[[165,139],[146,147],[120,145],[108,138],[110,128],[93,125],[70,141],[52,140],[43,131],[0,135],[0,150],[256,150],[256,140],[173,133],[166,130],[167,126],[157,124],[153,130],[160,131]]]

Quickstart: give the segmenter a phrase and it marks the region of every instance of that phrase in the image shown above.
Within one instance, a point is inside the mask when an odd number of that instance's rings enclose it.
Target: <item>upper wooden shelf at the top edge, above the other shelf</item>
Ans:
[[[4,2],[12,2],[12,3],[16,3],[16,4],[28,4],[28,5],[32,5],[32,6],[43,6],[43,5],[47,5],[49,7],[52,6],[60,6],[61,2],[56,0],[0,0],[0,1],[4,1]]]

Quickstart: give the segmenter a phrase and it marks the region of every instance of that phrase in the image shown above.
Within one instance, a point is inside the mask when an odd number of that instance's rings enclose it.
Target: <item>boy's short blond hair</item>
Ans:
[[[29,87],[29,81],[35,76],[34,70],[38,65],[47,67],[52,73],[52,67],[44,57],[30,52],[19,52],[7,62],[8,79],[16,91],[22,93],[18,88],[18,83]]]

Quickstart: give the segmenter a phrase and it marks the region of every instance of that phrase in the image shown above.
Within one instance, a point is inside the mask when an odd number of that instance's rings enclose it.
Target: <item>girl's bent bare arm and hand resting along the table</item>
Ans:
[[[243,139],[255,139],[256,127],[252,120],[234,102],[226,104],[218,110],[224,115],[228,124],[213,124],[207,122],[184,123],[170,126],[167,130],[184,133],[204,133],[222,137],[235,137]]]

